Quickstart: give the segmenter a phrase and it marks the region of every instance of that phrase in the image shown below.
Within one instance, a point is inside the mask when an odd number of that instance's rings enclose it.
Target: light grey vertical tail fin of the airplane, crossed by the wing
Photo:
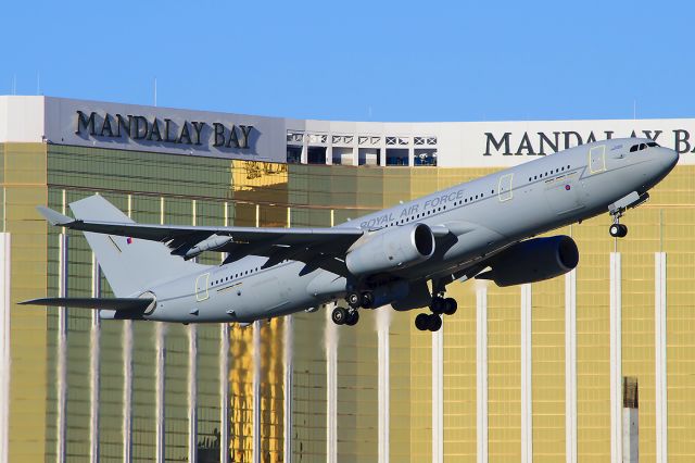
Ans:
[[[75,201],[70,208],[77,220],[135,223],[98,195]],[[64,218],[61,214],[55,214],[50,216],[49,222],[61,224]],[[170,250],[162,242],[91,232],[84,234],[111,289],[118,298],[138,295],[154,281],[174,279],[203,268],[203,265],[172,255]]]

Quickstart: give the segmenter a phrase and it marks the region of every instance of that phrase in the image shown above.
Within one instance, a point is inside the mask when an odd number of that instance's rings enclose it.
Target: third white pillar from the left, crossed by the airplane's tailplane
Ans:
[[[101,296],[101,272],[97,255],[91,254],[91,296]],[[101,383],[101,321],[99,311],[91,313],[91,331],[89,334],[89,456],[92,463],[99,461],[99,387]]]

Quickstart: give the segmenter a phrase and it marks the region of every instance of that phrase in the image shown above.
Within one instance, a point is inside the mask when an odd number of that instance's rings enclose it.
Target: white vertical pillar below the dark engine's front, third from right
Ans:
[[[577,463],[577,270],[565,275],[565,455]]]

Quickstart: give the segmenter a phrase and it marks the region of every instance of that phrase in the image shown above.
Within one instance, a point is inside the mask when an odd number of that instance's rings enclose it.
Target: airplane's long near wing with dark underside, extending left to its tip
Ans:
[[[103,199],[97,198],[81,201],[93,201],[93,205],[98,207]],[[305,262],[309,267],[321,267],[340,275],[346,272],[345,252],[364,234],[359,228],[211,227],[100,222],[72,218],[41,205],[37,210],[51,225],[160,241],[172,250],[172,254],[186,260],[205,251],[227,252],[225,263],[245,255],[263,255],[269,258],[266,266],[283,260],[295,260]]]

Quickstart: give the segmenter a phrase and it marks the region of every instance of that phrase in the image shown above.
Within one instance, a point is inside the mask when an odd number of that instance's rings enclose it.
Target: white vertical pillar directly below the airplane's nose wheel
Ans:
[[[622,461],[622,299],[620,253],[610,253],[610,460]]]

